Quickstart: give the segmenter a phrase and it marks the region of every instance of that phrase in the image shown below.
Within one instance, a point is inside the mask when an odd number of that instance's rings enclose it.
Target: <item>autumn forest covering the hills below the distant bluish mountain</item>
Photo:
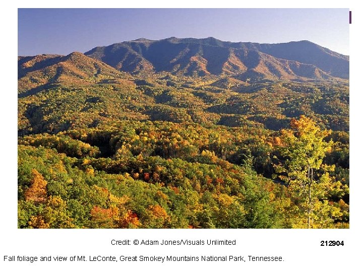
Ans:
[[[19,228],[349,228],[346,74],[97,56],[18,57]]]

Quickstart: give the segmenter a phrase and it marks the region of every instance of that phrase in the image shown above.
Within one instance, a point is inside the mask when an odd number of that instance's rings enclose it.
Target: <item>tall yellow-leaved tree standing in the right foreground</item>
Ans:
[[[329,193],[342,192],[342,184],[329,175],[334,166],[323,164],[326,152],[333,142],[324,138],[329,134],[309,117],[291,119],[291,129],[281,130],[282,147],[279,148],[284,161],[275,165],[281,180],[285,181],[297,198],[297,207],[303,220],[297,227],[325,227],[334,218],[341,216],[339,209],[328,201]]]

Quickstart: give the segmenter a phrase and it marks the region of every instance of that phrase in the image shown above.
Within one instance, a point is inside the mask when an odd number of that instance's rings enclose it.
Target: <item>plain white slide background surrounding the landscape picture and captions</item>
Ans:
[[[138,6],[129,4],[93,5],[83,1],[62,1],[61,5],[50,1],[17,1],[17,4],[3,3],[1,9],[1,240],[0,269],[26,271],[98,271],[112,269],[122,271],[220,271],[244,269],[253,271],[361,271],[361,174],[362,164],[361,102],[363,88],[361,81],[361,10],[353,1],[329,1],[324,5],[318,1],[304,1],[291,4],[291,1],[273,1],[247,4],[223,1],[213,4],[210,1],[183,1],[182,4],[170,1],[138,1]],[[296,3],[296,2],[293,2]],[[359,3],[359,2],[355,2]],[[191,8],[349,8],[352,11],[350,25],[350,229],[345,230],[20,230],[17,229],[17,8],[132,8],[132,7],[191,7]],[[348,20],[348,19],[347,19]],[[236,246],[116,246],[111,239],[123,240],[236,240]],[[321,240],[344,240],[344,246],[320,246]],[[283,262],[9,262],[4,255],[27,256],[201,256],[201,255],[248,255],[282,256]]]

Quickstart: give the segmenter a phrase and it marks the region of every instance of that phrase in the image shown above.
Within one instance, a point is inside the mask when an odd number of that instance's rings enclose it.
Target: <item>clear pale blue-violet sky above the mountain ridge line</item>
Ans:
[[[18,55],[85,52],[147,38],[310,40],[349,54],[348,9],[19,9]]]

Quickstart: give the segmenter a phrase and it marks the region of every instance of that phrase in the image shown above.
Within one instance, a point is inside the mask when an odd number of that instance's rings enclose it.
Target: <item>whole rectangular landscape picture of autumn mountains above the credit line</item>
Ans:
[[[349,9],[17,12],[18,229],[349,229]]]

